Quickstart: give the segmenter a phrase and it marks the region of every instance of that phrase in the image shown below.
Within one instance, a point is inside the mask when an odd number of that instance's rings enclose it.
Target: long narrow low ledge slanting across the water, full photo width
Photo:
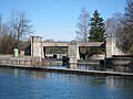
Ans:
[[[21,66],[21,65],[0,65],[0,67],[9,68],[22,68],[31,70],[55,72],[65,74],[80,74],[80,75],[96,75],[96,76],[133,76],[132,73],[116,73],[116,72],[101,72],[101,70],[84,70],[84,69],[71,69],[71,68],[51,68],[51,67],[34,67],[34,66]]]

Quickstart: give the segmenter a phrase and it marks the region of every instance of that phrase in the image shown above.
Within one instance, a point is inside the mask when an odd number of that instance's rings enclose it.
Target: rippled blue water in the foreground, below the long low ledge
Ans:
[[[0,99],[133,99],[133,77],[0,67]]]

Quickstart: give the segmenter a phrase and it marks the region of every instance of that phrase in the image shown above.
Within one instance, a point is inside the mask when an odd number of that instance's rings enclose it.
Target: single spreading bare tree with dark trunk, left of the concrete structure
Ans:
[[[9,18],[11,33],[16,36],[17,47],[19,47],[19,41],[32,33],[31,20],[28,18],[25,11],[13,10]]]

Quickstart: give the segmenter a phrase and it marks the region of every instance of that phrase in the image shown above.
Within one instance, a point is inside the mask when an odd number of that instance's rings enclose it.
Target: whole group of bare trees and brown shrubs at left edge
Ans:
[[[12,54],[13,48],[23,48],[27,36],[31,34],[32,25],[25,11],[12,10],[7,22],[0,14],[0,54]]]

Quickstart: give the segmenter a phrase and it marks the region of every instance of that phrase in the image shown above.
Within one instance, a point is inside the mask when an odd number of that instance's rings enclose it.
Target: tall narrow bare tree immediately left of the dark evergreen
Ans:
[[[81,10],[81,14],[78,20],[79,22],[76,23],[76,28],[79,30],[76,31],[76,37],[79,41],[88,42],[89,30],[90,30],[90,15],[88,10],[85,10],[85,8]]]

